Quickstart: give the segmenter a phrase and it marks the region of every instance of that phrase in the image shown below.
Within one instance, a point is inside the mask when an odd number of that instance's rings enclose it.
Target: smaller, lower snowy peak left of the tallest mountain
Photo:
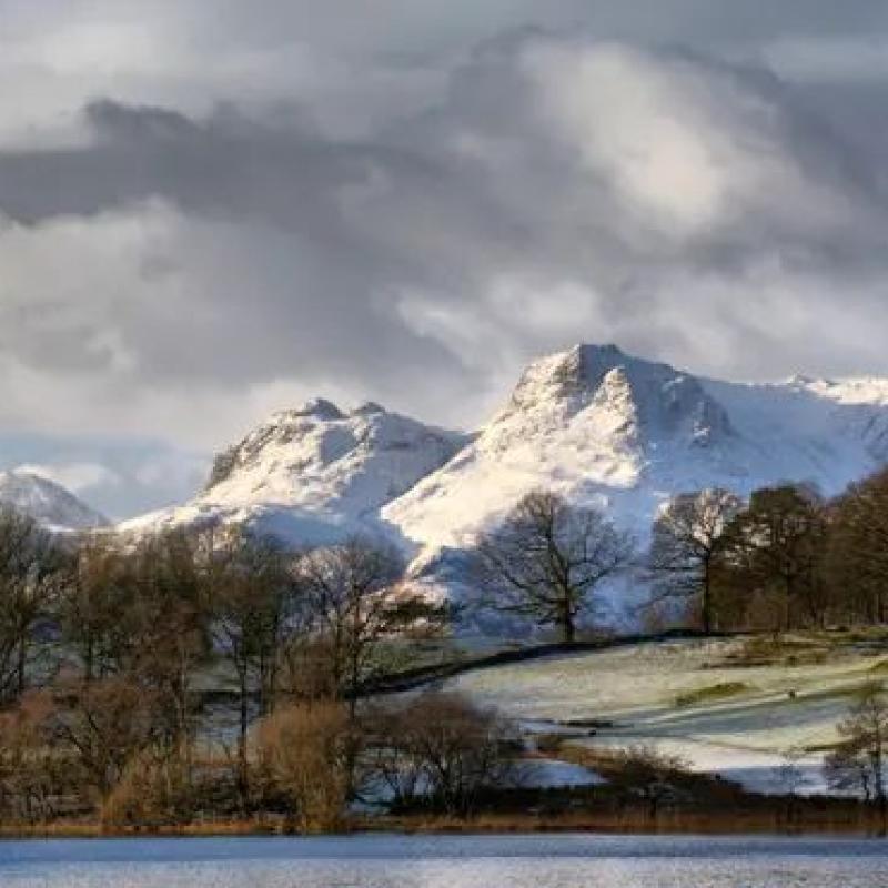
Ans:
[[[466,436],[377,404],[343,413],[317,400],[276,413],[220,454],[190,503],[124,522],[124,533],[246,523],[293,543],[379,531],[389,501],[443,465]]]

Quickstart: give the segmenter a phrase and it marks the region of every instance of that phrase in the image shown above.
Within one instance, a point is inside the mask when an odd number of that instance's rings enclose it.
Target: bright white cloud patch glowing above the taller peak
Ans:
[[[546,120],[640,228],[680,241],[760,214],[807,232],[866,211],[833,170],[806,169],[793,107],[747,72],[586,40],[531,42],[522,61]]]

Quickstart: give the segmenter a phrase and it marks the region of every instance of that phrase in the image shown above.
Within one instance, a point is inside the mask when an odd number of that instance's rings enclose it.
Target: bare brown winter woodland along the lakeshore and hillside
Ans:
[[[653,589],[638,612],[650,625],[880,625],[888,471],[831,501],[798,485],[748,502],[683,494],[645,552],[602,513],[539,491],[468,561],[470,612],[549,627],[565,644],[619,575]],[[271,818],[329,830],[350,805],[381,798],[466,816],[492,788],[518,789],[515,726],[454,695],[363,692],[470,617],[430,603],[398,553],[370,539],[294,552],[239,528],[72,537],[0,513],[0,821]],[[885,814],[878,688],[840,735],[834,784]],[[662,785],[653,754],[630,765]]]

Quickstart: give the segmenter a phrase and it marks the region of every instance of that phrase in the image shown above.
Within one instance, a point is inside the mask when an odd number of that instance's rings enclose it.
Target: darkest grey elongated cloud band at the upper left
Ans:
[[[371,151],[296,127],[272,129],[233,109],[194,121],[170,109],[100,100],[83,117],[95,140],[89,148],[4,153],[4,212],[39,222],[163,195],[195,212],[255,213],[296,228],[311,219],[323,228],[334,209],[329,186],[362,181],[374,160]]]

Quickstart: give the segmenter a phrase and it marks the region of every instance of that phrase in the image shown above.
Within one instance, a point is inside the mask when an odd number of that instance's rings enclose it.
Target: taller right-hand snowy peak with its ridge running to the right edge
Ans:
[[[886,461],[886,380],[715,382],[578,345],[534,362],[478,436],[382,517],[414,544],[415,573],[453,582],[458,551],[534,487],[605,508],[644,543],[676,493],[804,481],[835,494]]]

